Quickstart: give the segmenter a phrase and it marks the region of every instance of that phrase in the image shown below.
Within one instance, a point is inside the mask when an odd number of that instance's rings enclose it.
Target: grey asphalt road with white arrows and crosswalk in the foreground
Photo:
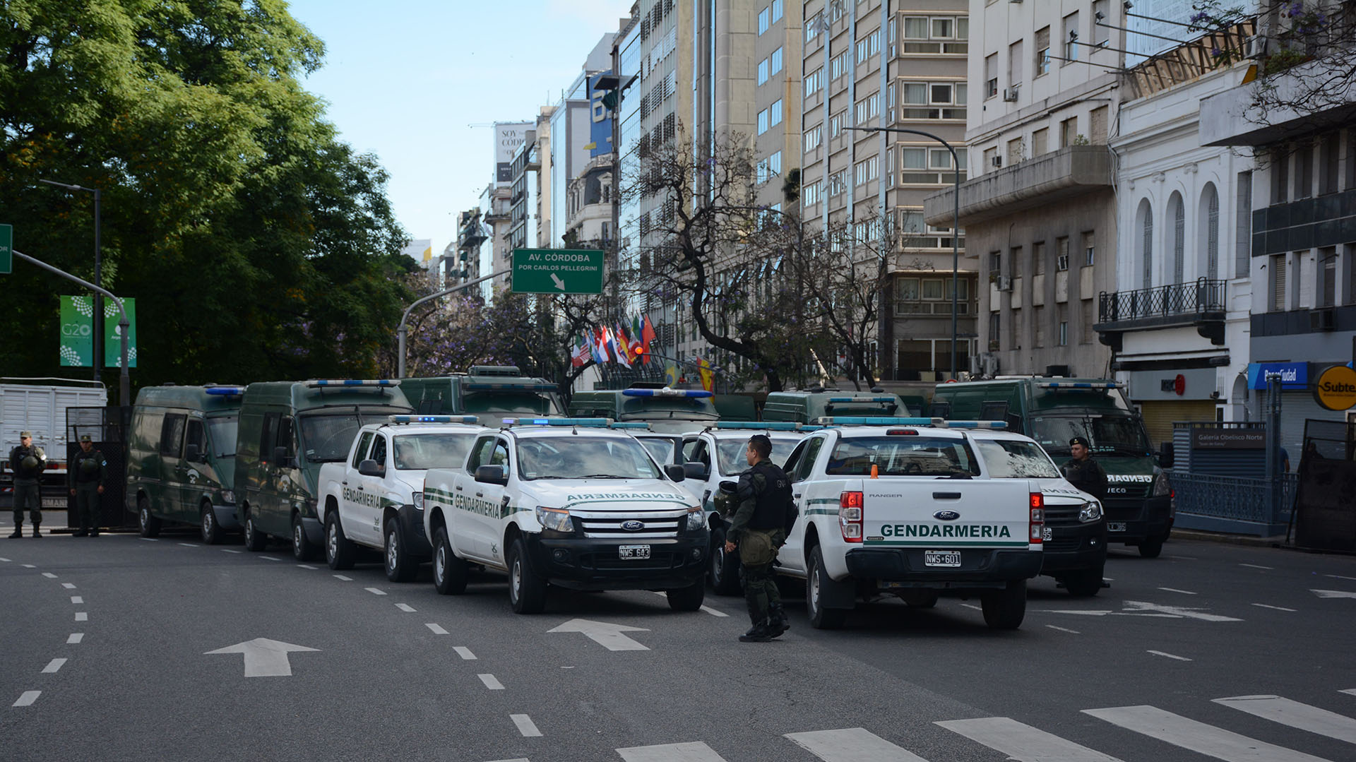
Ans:
[[[792,601],[742,644],[739,598],[553,591],[523,617],[499,575],[441,597],[427,568],[190,532],[0,540],[0,759],[1356,759],[1356,559],[1172,541],[1106,575],[1033,580],[1017,632],[959,598],[814,630]],[[637,629],[609,649],[575,620]],[[313,651],[259,652],[273,677],[209,654],[255,639]]]

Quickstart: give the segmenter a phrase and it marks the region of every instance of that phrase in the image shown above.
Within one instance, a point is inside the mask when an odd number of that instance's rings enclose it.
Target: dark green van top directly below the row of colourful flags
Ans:
[[[610,418],[645,422],[659,434],[701,431],[720,420],[712,393],[704,389],[671,389],[639,382],[628,389],[575,392],[571,418]]]

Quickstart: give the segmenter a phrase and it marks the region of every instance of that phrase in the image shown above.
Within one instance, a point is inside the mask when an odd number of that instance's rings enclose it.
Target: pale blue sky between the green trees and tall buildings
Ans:
[[[632,0],[293,0],[325,43],[306,89],[357,151],[391,172],[396,217],[441,254],[494,172],[488,122],[536,118],[560,99]]]

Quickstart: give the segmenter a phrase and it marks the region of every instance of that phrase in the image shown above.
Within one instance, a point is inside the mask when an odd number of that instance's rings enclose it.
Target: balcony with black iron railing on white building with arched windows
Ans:
[[[1200,278],[1134,292],[1102,292],[1097,305],[1101,343],[1120,351],[1125,331],[1193,325],[1215,346],[1224,344],[1224,297],[1227,281]]]

